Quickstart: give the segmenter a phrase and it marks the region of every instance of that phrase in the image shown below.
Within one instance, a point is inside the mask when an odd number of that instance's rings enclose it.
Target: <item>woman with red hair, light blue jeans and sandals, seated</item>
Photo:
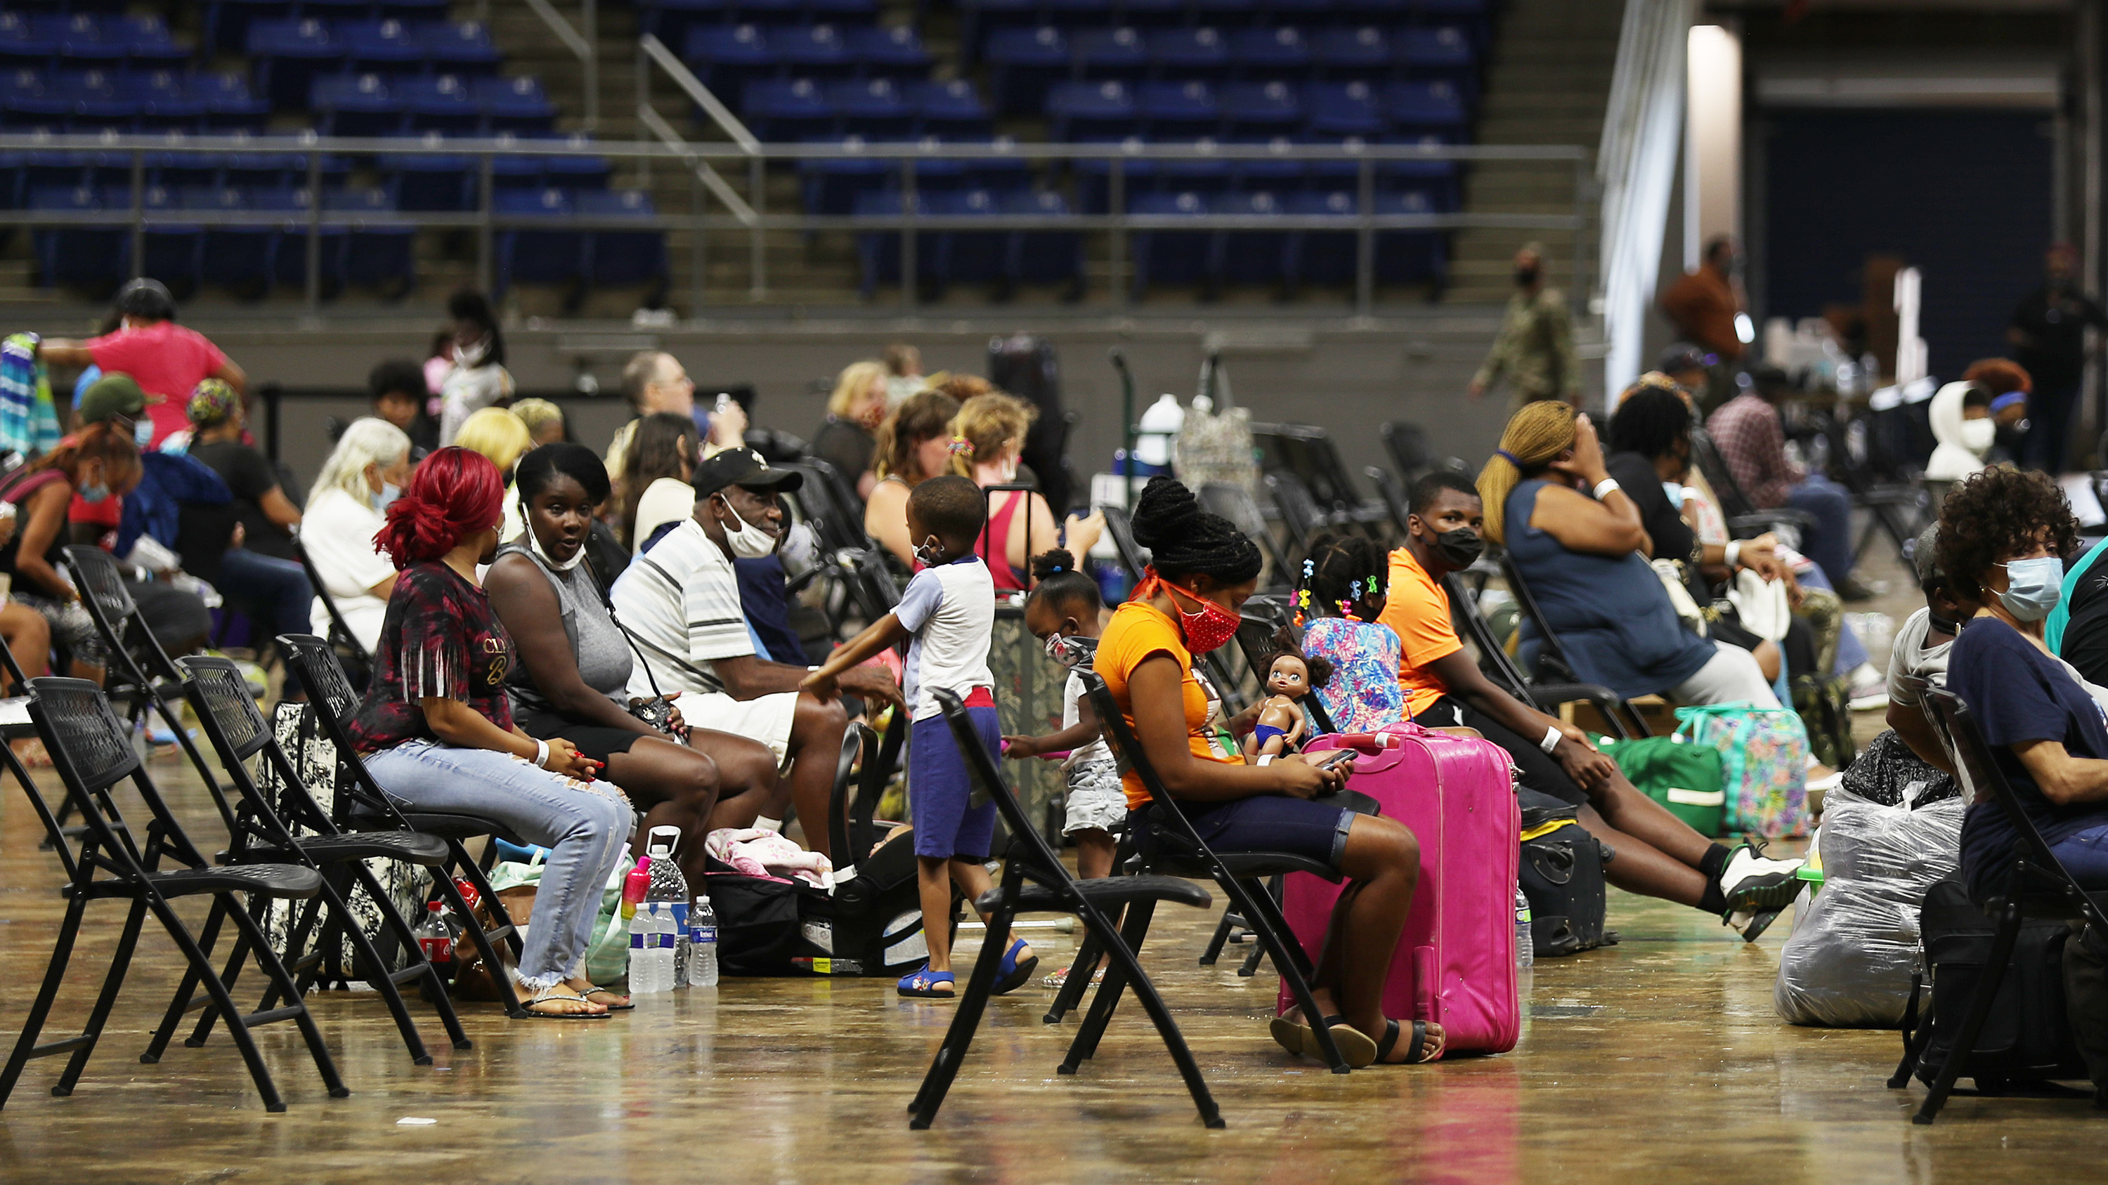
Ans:
[[[550,850],[514,972],[527,1014],[607,1016],[628,997],[594,987],[580,961],[632,812],[569,740],[533,740],[512,723],[512,639],[476,582],[476,565],[497,555],[502,498],[497,466],[449,447],[388,506],[373,546],[401,576],[352,740],[398,805],[489,818]]]

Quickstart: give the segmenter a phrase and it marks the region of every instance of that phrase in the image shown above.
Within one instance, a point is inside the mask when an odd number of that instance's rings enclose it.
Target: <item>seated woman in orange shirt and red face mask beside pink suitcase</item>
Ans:
[[[1151,479],[1134,506],[1134,538],[1155,565],[1134,599],[1113,614],[1098,639],[1096,671],[1113,692],[1149,765],[1185,805],[1216,852],[1294,852],[1347,875],[1311,985],[1320,1018],[1353,1067],[1423,1063],[1442,1056],[1442,1027],[1383,1016],[1383,980],[1421,875],[1421,848],[1400,822],[1324,801],[1345,786],[1345,763],[1320,768],[1299,755],[1248,765],[1233,734],[1246,713],[1223,717],[1223,702],[1195,675],[1193,656],[1216,649],[1237,630],[1237,609],[1258,582],[1258,546],[1221,514],[1208,514],[1170,477]],[[1149,846],[1151,799],[1134,772],[1124,776],[1130,831]],[[1400,1040],[1400,1035],[1408,1040]],[[1307,1018],[1273,1023],[1290,1052],[1318,1048]]]

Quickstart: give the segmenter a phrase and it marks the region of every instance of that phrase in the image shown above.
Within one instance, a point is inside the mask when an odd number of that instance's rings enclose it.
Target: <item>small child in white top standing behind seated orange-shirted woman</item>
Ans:
[[[1098,584],[1075,567],[1075,557],[1067,550],[1050,550],[1033,557],[1033,595],[1024,601],[1024,628],[1046,643],[1048,658],[1069,668],[1069,685],[1062,687],[1060,732],[1046,736],[1006,736],[1003,753],[1010,757],[1039,757],[1067,753],[1062,778],[1067,791],[1062,803],[1069,820],[1062,835],[1075,837],[1075,871],[1079,879],[1113,875],[1113,824],[1128,818],[1128,795],[1119,789],[1119,763],[1105,746],[1098,730],[1098,713],[1092,711],[1084,694],[1084,679],[1075,671],[1088,668],[1098,654]],[[1100,970],[1098,976],[1105,972]],[[1062,968],[1046,978],[1048,987],[1060,987],[1069,978]]]

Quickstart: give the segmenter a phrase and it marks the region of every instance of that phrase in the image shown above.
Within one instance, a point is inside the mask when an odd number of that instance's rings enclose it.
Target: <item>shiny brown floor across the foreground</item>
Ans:
[[[202,791],[156,761],[200,835]],[[57,862],[19,791],[0,799],[0,1035],[11,1044],[59,915]],[[1073,1023],[1046,991],[999,999],[934,1130],[904,1105],[951,1016],[881,980],[727,980],[601,1023],[470,1006],[476,1046],[413,1067],[371,995],[316,1012],[352,1088],[329,1099],[289,1027],[261,1031],[291,1109],[268,1115],[226,1037],[139,1065],[177,961],[150,930],[70,1099],[32,1063],[0,1111],[4,1181],[2100,1181],[2108,1115],[2083,1103],[1956,1099],[1935,1128],[1882,1086],[1893,1033],[1794,1029],[1771,1008],[1781,921],[1745,947],[1716,921],[1613,890],[1623,945],[1547,961],[1522,1044],[1495,1058],[1347,1077],[1265,1035],[1271,976],[1199,968],[1214,917],[1164,917],[1149,951],[1229,1120],[1195,1120],[1132,1006],[1098,1058],[1056,1077]],[[74,959],[78,1025],[120,907]],[[1050,966],[1071,938],[1033,932]],[[245,993],[247,995],[247,993]],[[426,1016],[426,1014],[422,1014]],[[436,1120],[409,1126],[403,1120]]]

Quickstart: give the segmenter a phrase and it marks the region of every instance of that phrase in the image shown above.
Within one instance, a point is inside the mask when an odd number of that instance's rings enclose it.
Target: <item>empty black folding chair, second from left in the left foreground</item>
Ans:
[[[405,921],[403,913],[392,900],[388,900],[388,892],[382,888],[379,879],[371,869],[367,869],[367,860],[371,858],[390,858],[436,869],[447,862],[447,843],[438,837],[419,835],[415,831],[339,829],[329,818],[329,812],[314,801],[308,786],[301,784],[291,757],[287,757],[285,749],[278,744],[278,738],[272,734],[264,713],[257,711],[255,700],[249,698],[249,685],[242,679],[240,668],[236,668],[232,660],[207,656],[183,658],[181,666],[190,675],[183,683],[183,694],[190,700],[192,711],[198,715],[198,727],[202,727],[204,738],[211,740],[213,751],[219,755],[219,765],[228,772],[228,780],[234,782],[234,793],[240,799],[234,810],[240,827],[234,831],[234,841],[221,854],[219,862],[308,865],[323,873],[323,890],[314,896],[314,900],[299,909],[297,921],[287,928],[291,938],[282,957],[287,959],[287,970],[293,972],[297,989],[306,993],[327,953],[339,951],[341,943],[350,940],[352,951],[356,951],[356,957],[363,961],[365,980],[373,985],[382,1002],[388,1004],[388,1012],[394,1016],[396,1029],[403,1033],[403,1046],[409,1048],[409,1056],[415,1065],[432,1065],[432,1054],[424,1050],[424,1040],[417,1035],[417,1023],[411,1021],[409,1006],[403,1002],[401,985],[405,983],[424,980],[426,995],[438,1008],[438,1018],[447,1027],[447,1037],[453,1042],[453,1048],[470,1048],[468,1033],[462,1031],[462,1021],[453,1014],[453,1002],[447,997],[447,980],[426,957],[424,949],[417,945],[417,936],[409,928],[409,921]],[[285,786],[278,803],[270,801],[270,795],[257,786],[249,772],[249,761],[259,753]],[[295,835],[293,827],[306,829],[308,835]],[[409,959],[409,966],[403,970],[390,972],[390,959],[375,949],[373,938],[360,928],[348,900],[352,886],[365,890],[367,900],[379,915],[382,928],[394,936],[396,949],[401,949]],[[308,934],[314,932],[316,913],[323,905],[329,907],[329,919],[323,924],[314,951],[304,955],[301,951],[308,947]],[[264,902],[251,902],[251,917],[261,924]],[[221,921],[221,907],[215,902],[211,917],[204,921],[204,932],[198,938],[198,945],[207,951],[213,949]],[[228,959],[228,970],[221,972],[221,980],[226,980],[230,989],[240,972],[242,955],[242,943],[236,943],[234,955]],[[183,976],[183,985],[177,989],[175,1002],[169,1006],[169,1016],[154,1033],[154,1044],[148,1050],[152,1056],[158,1058],[160,1050],[167,1048],[169,1037],[175,1035],[175,1025],[181,1021],[183,1012],[202,1004],[200,999],[192,999],[194,989],[196,976]],[[278,991],[274,987],[266,993],[259,1008],[268,1010],[276,995]],[[202,1046],[211,1027],[213,1014],[207,1012],[198,1021],[198,1029],[183,1044],[192,1048]]]

